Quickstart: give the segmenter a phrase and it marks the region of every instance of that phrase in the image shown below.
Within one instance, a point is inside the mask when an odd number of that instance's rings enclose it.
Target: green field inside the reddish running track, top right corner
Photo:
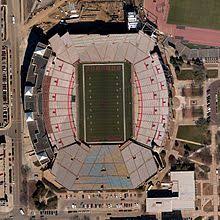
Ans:
[[[168,23],[220,29],[219,0],[170,0]]]

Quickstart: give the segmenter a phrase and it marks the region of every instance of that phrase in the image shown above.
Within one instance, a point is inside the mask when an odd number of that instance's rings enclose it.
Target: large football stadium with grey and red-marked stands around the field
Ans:
[[[54,35],[24,88],[35,153],[68,190],[134,189],[158,171],[169,124],[156,42],[143,32]]]

